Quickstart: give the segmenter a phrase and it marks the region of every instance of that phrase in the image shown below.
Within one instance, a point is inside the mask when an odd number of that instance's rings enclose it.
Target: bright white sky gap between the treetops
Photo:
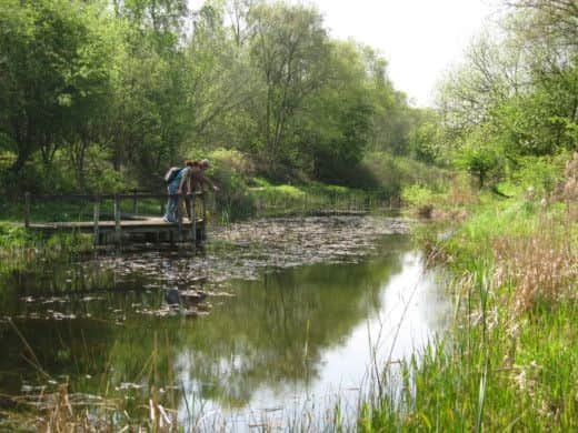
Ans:
[[[190,0],[198,7],[202,0]],[[379,50],[397,89],[431,105],[437,81],[496,11],[496,0],[292,0],[312,3],[339,39]]]

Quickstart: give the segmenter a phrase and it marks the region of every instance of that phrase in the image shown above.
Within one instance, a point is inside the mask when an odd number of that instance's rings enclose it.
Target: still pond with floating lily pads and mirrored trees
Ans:
[[[398,218],[268,219],[195,253],[39,262],[0,282],[0,394],[68,383],[146,416],[152,392],[208,431],[317,430],[337,409],[355,424],[376,373],[419,355],[449,313],[407,232]]]

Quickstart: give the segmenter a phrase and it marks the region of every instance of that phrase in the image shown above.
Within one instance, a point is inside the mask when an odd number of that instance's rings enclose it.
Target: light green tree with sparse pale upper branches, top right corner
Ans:
[[[514,180],[539,190],[556,181],[549,159],[575,150],[578,58],[576,8],[520,1],[499,28],[469,47],[439,89],[445,153],[480,184]],[[574,26],[572,24],[572,26]],[[561,30],[564,29],[564,30]],[[537,180],[531,180],[532,164]]]

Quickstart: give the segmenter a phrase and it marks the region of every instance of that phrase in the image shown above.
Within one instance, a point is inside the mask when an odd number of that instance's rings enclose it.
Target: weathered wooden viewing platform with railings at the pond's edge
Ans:
[[[120,212],[121,200],[130,199],[133,202],[133,211],[137,211],[137,201],[139,199],[159,199],[161,201],[161,212],[163,210],[163,201],[168,199],[165,194],[130,194],[113,197],[94,197],[94,195],[46,195],[36,197],[36,201],[56,201],[58,199],[73,199],[81,201],[90,201],[93,203],[92,221],[66,221],[66,222],[31,222],[30,208],[31,195],[26,194],[24,202],[24,226],[28,230],[41,232],[46,235],[59,232],[80,232],[92,233],[94,245],[100,244],[122,244],[129,242],[192,242],[197,244],[207,238],[207,210],[203,193],[195,193],[190,200],[189,213],[192,221],[183,218],[183,197],[179,197],[179,205],[176,222],[166,222],[161,216],[139,215],[136,213],[122,214]],[[100,204],[102,200],[113,200],[114,214],[113,220],[100,219]],[[199,204],[200,211],[197,211]]]

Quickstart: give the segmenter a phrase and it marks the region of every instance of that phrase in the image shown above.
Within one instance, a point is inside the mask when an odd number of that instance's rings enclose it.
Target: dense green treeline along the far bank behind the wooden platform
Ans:
[[[331,39],[311,7],[0,0],[1,181],[159,185],[168,167],[218,151],[273,181],[368,185],[363,157],[412,153],[425,117],[386,67]]]

